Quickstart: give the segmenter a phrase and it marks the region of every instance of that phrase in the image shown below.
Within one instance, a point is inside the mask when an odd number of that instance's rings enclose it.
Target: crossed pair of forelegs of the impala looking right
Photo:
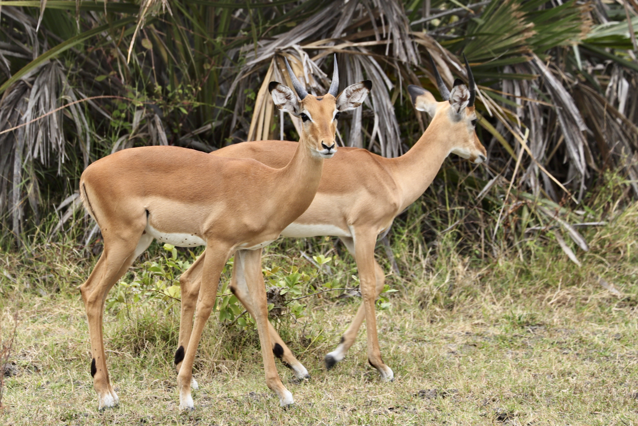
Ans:
[[[357,332],[361,324],[364,320],[368,321],[369,318],[369,322],[366,325],[368,362],[378,370],[382,381],[392,381],[394,373],[390,367],[383,363],[376,330],[375,300],[381,294],[385,285],[385,274],[375,260],[376,234],[373,232],[359,232],[356,236],[359,237],[356,245],[353,238],[341,238],[341,241],[343,241],[346,248],[348,248],[348,252],[353,255],[357,262],[363,301],[359,306],[359,310],[357,310],[355,318],[348,326],[348,330],[343,333],[337,348],[325,356],[325,366],[326,369],[330,370],[336,363],[343,360],[346,352],[357,339]],[[374,278],[374,283],[372,278]]]

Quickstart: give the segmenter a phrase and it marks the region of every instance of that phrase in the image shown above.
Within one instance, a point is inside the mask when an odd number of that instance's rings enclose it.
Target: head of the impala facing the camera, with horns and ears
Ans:
[[[268,86],[272,100],[278,109],[301,118],[303,131],[300,135],[300,142],[304,141],[310,144],[314,155],[320,158],[331,158],[337,152],[335,133],[339,113],[359,107],[370,92],[372,82],[365,80],[348,86],[341,93],[338,93],[339,71],[335,55],[332,84],[330,84],[328,93],[323,96],[314,96],[310,95],[297,80],[290,64],[288,64],[288,59],[285,61],[292,85],[301,100],[297,100],[292,89],[276,81],[271,82]]]

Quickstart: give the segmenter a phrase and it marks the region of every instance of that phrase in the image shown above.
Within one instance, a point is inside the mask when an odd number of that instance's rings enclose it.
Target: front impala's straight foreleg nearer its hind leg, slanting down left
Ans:
[[[217,297],[217,287],[219,285],[219,275],[226,264],[228,250],[221,250],[221,245],[213,245],[209,241],[209,247],[216,247],[214,252],[207,248],[207,255],[202,266],[202,277],[200,281],[200,289],[197,298],[197,306],[195,310],[195,324],[193,324],[192,332],[188,339],[188,345],[184,351],[184,358],[181,368],[177,374],[177,389],[179,390],[179,408],[194,409],[193,397],[191,396],[191,381],[193,379],[193,363],[195,362],[195,354],[197,346],[202,338],[202,331],[209,316],[211,316],[212,308],[215,305]],[[183,301],[182,301],[183,303]],[[179,351],[179,349],[178,349]]]

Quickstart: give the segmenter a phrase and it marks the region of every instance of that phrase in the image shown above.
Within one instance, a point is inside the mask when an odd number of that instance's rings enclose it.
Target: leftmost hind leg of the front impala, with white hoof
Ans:
[[[142,231],[139,232],[140,234]],[[137,247],[135,240],[138,240]],[[131,238],[130,240],[112,240],[105,237],[104,251],[89,278],[80,286],[80,293],[89,323],[91,340],[91,376],[93,387],[98,393],[99,409],[113,407],[119,398],[108,379],[108,369],[103,337],[103,312],[108,291],[117,280],[151,244],[152,237]]]

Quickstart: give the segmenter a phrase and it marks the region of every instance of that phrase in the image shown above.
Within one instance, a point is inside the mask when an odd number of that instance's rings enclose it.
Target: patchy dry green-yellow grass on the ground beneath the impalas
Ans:
[[[292,374],[278,364],[295,397],[288,410],[265,386],[256,332],[211,317],[195,362],[197,409],[179,411],[172,365],[179,307],[153,300],[105,316],[108,365],[121,404],[99,413],[84,307],[75,289],[96,259],[70,243],[33,247],[29,259],[5,253],[0,272],[12,279],[0,278],[0,325],[6,341],[18,312],[10,353],[18,374],[4,379],[0,422],[636,425],[637,220],[633,206],[615,213],[608,225],[586,229],[591,250],[577,252],[581,268],[547,239],[480,259],[459,253],[452,238],[441,237],[433,250],[393,238],[404,276],[387,278],[398,291],[377,316],[383,357],[396,380],[378,382],[367,364],[364,331],[346,359],[325,371],[323,355],[336,346],[359,300],[330,293],[308,298],[308,316],[278,323],[312,376],[308,383],[290,383]],[[297,255],[308,245],[315,253],[333,247],[325,239],[285,242],[269,250],[265,264],[311,268]],[[382,253],[378,259],[386,262]],[[352,285],[352,261],[341,248],[330,255],[332,279]],[[150,256],[158,258],[158,250]],[[598,277],[625,296],[613,296]]]

